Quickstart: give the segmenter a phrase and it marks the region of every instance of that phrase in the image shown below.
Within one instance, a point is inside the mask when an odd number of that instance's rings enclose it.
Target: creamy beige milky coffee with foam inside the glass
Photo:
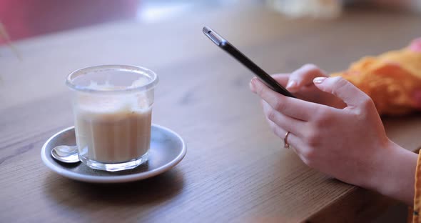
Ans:
[[[132,86],[143,86],[144,80]],[[118,89],[91,82],[91,89]],[[151,104],[145,92],[78,94],[75,101],[79,155],[103,163],[128,162],[148,152],[151,142]]]

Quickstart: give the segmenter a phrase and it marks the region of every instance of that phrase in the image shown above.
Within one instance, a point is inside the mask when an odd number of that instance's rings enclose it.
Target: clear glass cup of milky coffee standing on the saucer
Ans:
[[[157,83],[153,71],[139,66],[91,66],[67,76],[83,164],[114,172],[148,160]]]

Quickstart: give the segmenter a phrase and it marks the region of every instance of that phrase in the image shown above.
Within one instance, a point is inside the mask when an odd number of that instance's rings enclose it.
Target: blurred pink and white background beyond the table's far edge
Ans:
[[[289,18],[338,18],[345,7],[421,11],[421,0],[0,0],[0,44],[111,21],[168,21],[186,14],[264,6]]]

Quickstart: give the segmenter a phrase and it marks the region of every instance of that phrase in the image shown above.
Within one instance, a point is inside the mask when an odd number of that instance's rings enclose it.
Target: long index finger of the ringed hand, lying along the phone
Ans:
[[[313,112],[323,107],[329,108],[323,104],[315,104],[309,101],[303,101],[288,96],[283,96],[271,90],[258,79],[252,79],[251,84],[255,89],[255,93],[263,100],[268,102],[273,109],[285,114],[288,117],[308,121],[311,119]]]

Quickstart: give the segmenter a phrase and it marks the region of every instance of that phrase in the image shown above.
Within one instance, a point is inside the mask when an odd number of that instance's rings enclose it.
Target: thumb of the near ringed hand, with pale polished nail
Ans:
[[[337,96],[348,106],[357,107],[367,101],[371,101],[367,94],[341,76],[316,77],[313,79],[313,82],[318,89]]]

